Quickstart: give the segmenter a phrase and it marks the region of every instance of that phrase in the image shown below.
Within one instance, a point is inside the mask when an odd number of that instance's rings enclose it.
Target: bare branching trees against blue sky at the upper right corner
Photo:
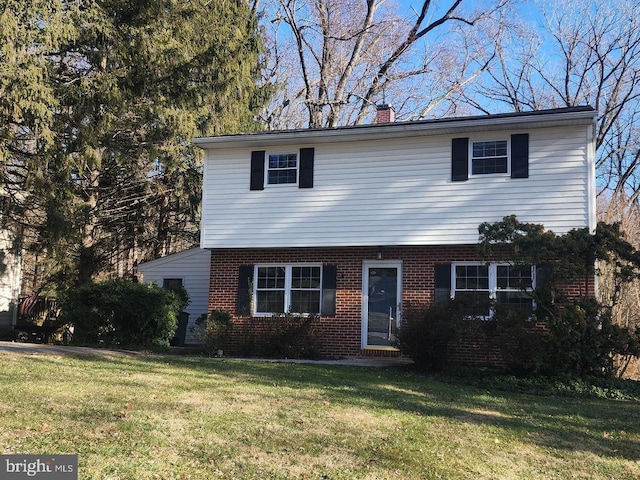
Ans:
[[[592,105],[600,192],[640,195],[640,15],[638,2],[539,2],[496,46],[498,61],[464,93],[496,110]]]

